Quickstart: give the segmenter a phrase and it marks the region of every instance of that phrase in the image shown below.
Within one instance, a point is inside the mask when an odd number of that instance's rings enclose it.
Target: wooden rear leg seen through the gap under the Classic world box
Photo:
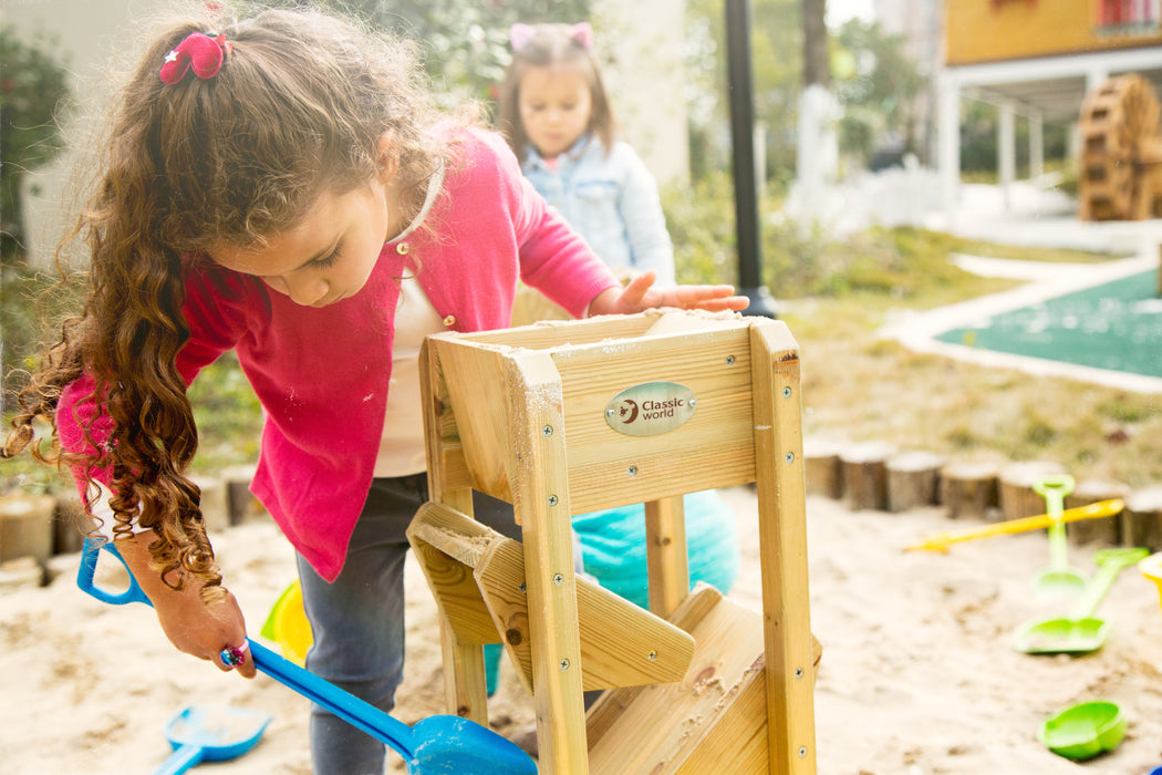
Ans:
[[[686,508],[676,495],[646,501],[645,512],[650,610],[667,618],[690,594]]]

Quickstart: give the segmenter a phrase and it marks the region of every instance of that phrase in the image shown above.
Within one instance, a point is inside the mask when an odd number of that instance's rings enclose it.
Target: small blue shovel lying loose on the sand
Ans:
[[[271,717],[245,708],[182,708],[165,725],[173,753],[153,775],[180,775],[203,761],[229,761],[263,737]]]

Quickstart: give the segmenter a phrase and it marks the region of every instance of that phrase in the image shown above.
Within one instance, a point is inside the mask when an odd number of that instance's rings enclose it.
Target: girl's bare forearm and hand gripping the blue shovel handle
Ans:
[[[149,567],[149,545],[153,540],[152,532],[139,533],[130,540],[119,540],[117,551],[153,603],[165,637],[179,651],[214,662],[220,670],[235,669],[248,679],[254,677],[254,660],[249,648],[239,650],[244,659],[237,666],[231,668],[222,662],[222,650],[246,644],[246,623],[234,595],[223,590],[225,600],[207,605],[199,596],[198,584],[186,583],[180,591],[167,587]]]

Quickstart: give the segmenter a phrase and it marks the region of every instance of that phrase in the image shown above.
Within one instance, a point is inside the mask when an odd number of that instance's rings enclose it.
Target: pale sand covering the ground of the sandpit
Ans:
[[[745,547],[731,595],[758,605],[755,497],[725,491]],[[1113,623],[1084,656],[1016,651],[1024,622],[1061,613],[1038,602],[1032,580],[1048,562],[1045,533],[957,544],[948,554],[903,553],[934,532],[971,526],[939,509],[852,512],[808,500],[812,630],[824,645],[816,687],[818,769],[824,775],[1145,775],[1162,765],[1162,607],[1136,569],[1100,609]],[[266,522],[214,539],[228,586],[252,634],[294,579],[292,551]],[[1092,571],[1091,548],[1070,559]],[[71,564],[70,564],[71,561]],[[114,608],[74,584],[79,558],[49,587],[0,595],[0,730],[5,775],[145,773],[168,754],[165,722],[186,704],[260,710],[273,720],[250,753],[207,766],[218,775],[310,772],[308,704],[274,681],[245,681],[178,653],[143,605]],[[435,607],[418,567],[408,569],[408,662],[397,718],[440,706]],[[1105,697],[1128,718],[1112,754],[1078,765],[1049,753],[1037,730],[1050,713]],[[511,669],[490,703],[502,733],[532,724]],[[388,772],[403,772],[392,755]]]

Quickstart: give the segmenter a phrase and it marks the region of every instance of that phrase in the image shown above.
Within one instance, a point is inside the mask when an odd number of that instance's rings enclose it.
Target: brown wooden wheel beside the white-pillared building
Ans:
[[[1082,103],[1078,131],[1078,217],[1162,217],[1162,131],[1150,82],[1131,73],[1102,84]]]

